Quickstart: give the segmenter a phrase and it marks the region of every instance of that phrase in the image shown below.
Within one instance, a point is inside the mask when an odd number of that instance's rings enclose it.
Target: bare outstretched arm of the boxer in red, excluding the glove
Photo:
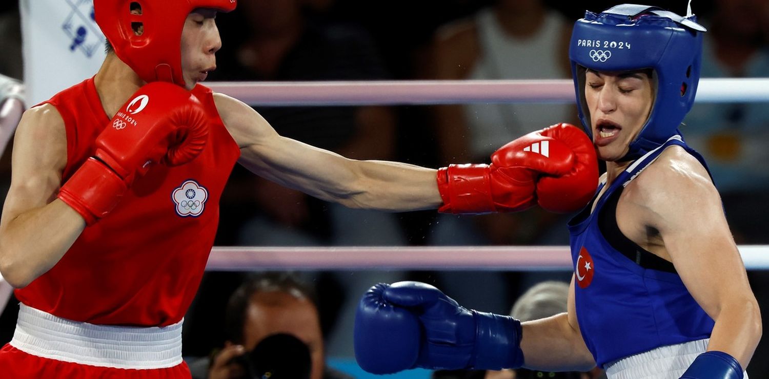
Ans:
[[[281,137],[241,101],[219,94],[215,101],[222,121],[241,148],[241,165],[257,175],[351,208],[409,211],[438,208],[443,203],[435,170],[348,159]]]

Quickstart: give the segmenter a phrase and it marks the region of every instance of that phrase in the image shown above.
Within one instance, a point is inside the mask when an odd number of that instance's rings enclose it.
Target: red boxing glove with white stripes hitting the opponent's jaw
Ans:
[[[574,138],[578,142],[564,141]],[[583,147],[585,141],[588,151]],[[581,150],[575,152],[573,146]],[[522,211],[539,204],[550,211],[581,208],[584,194],[554,196],[558,185],[540,188],[541,178],[571,178],[564,185],[589,181],[598,185],[598,161],[590,138],[574,125],[558,124],[534,131],[504,145],[491,155],[491,165],[449,165],[438,170],[438,190],[444,205],[438,210],[455,214]],[[592,170],[590,169],[592,167]],[[584,191],[584,187],[577,188]],[[568,190],[568,188],[567,188]],[[542,191],[546,201],[538,201]],[[592,192],[591,194],[592,195]],[[581,204],[578,204],[581,203]]]

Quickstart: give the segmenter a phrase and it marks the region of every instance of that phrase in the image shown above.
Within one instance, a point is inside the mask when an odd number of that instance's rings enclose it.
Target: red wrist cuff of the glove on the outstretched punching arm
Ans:
[[[481,214],[497,211],[491,197],[488,165],[448,165],[438,170],[442,213]]]

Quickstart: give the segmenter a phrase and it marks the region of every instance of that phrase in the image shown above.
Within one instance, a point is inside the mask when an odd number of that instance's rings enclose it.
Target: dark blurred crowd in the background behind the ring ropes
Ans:
[[[235,12],[218,15],[223,48],[208,80],[571,78],[568,38],[574,20],[585,9],[600,11],[617,3],[240,0]],[[685,14],[687,2],[676,3],[670,9]],[[692,6],[709,29],[703,78],[769,77],[769,1],[708,0]],[[23,79],[19,24],[18,4],[3,2],[0,74]],[[434,168],[487,161],[496,148],[529,131],[561,121],[579,123],[574,104],[255,108],[281,135],[349,158],[394,159]],[[762,165],[769,160],[769,107],[697,104],[684,124],[684,138],[711,165],[737,243],[769,244],[764,231],[769,224],[769,170]],[[10,150],[0,161],[3,191],[9,181]],[[568,244],[568,214],[538,208],[478,217],[351,210],[281,188],[243,168],[233,172],[221,203],[215,242],[220,246]],[[568,281],[571,273],[345,271],[302,276],[313,284],[313,294],[276,295],[268,299],[270,304],[294,301],[291,307],[317,312],[319,330],[312,332],[322,334],[315,337],[325,341],[325,350],[324,343],[315,342],[311,355],[320,351],[351,357],[355,304],[377,281],[426,281],[468,308],[505,314],[534,284]],[[759,302],[769,304],[769,274],[751,271],[749,276]],[[225,331],[228,316],[222,310],[232,307],[227,304],[236,288],[247,291],[241,298],[257,292],[256,284],[241,287],[252,281],[249,273],[206,274],[185,321],[185,356],[205,357],[215,349],[238,353],[233,346],[246,343],[231,341],[237,337]],[[241,303],[242,312],[248,304]],[[12,305],[0,318],[2,343],[12,334],[7,322],[15,312]],[[248,344],[253,349],[256,341]],[[769,347],[764,343],[756,357],[765,356]],[[748,373],[769,377],[769,361],[755,359]]]

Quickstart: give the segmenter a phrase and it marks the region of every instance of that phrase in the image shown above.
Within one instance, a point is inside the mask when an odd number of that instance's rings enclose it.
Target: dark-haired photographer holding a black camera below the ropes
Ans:
[[[253,364],[254,367],[264,364],[260,364],[259,357],[250,352],[268,338],[273,340],[270,341],[272,349],[261,345],[262,351],[267,353],[278,347],[281,351],[271,352],[276,360],[281,357],[281,352],[301,354],[301,350],[295,349],[291,341],[286,342],[285,335],[295,337],[306,345],[311,361],[310,379],[349,379],[347,375],[325,366],[325,350],[315,291],[295,276],[265,274],[245,282],[231,295],[225,312],[225,347],[210,360],[204,358],[190,364],[190,370],[196,379],[251,379],[245,375],[248,372],[248,364]],[[254,358],[247,358],[249,356]],[[286,361],[301,366],[302,357],[298,355],[295,361]],[[277,368],[280,371],[281,367]],[[264,373],[252,374],[258,374],[261,378]]]

